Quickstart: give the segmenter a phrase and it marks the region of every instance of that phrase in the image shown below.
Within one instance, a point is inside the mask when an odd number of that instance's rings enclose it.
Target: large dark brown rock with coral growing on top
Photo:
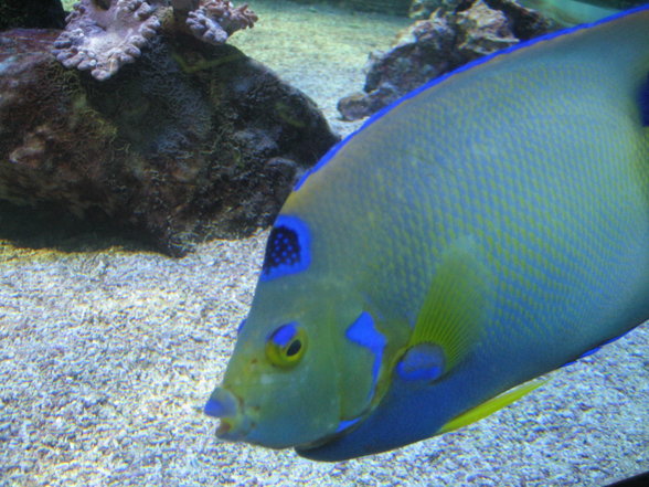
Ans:
[[[336,141],[316,105],[237,49],[163,32],[99,82],[0,34],[0,199],[108,221],[182,255],[268,225]]]

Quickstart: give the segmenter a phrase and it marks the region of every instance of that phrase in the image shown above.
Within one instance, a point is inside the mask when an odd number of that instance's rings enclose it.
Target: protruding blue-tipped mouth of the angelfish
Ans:
[[[220,420],[216,436],[228,442],[245,440],[253,421],[244,413],[243,400],[227,389],[216,388],[205,403],[203,412]]]

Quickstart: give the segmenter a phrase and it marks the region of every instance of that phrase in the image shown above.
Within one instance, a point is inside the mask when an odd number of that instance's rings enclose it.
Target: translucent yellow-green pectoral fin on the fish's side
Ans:
[[[407,345],[439,346],[444,372],[466,357],[491,315],[494,286],[481,257],[471,237],[459,239],[445,252]]]

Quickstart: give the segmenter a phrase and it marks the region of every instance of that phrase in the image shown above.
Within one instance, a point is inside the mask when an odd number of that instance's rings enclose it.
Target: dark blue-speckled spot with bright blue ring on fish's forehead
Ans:
[[[262,280],[305,271],[311,262],[307,224],[297,216],[279,215],[266,244]]]

